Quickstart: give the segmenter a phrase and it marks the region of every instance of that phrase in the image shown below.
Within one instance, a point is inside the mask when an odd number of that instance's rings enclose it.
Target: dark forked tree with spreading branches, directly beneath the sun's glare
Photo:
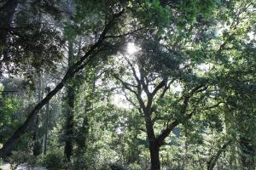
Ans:
[[[204,92],[207,86],[205,82],[194,77],[194,80],[185,82],[191,85],[184,85],[183,92],[174,97],[175,91],[168,93],[168,91],[173,90],[170,89],[171,85],[175,81],[179,81],[179,83],[186,81],[183,75],[189,74],[189,72],[180,69],[178,57],[171,52],[167,52],[167,49],[157,44],[157,42],[143,42],[141,46],[142,54],[135,54],[134,59],[130,59],[131,56],[125,56],[123,58],[125,64],[119,66],[119,73],[114,73],[113,77],[121,83],[126,99],[143,115],[148,135],[151,168],[160,169],[160,146],[164,144],[166,137],[174,127],[187,122],[193,115],[193,107],[191,109],[191,106],[189,106],[191,105],[190,100],[195,94]],[[134,101],[131,94],[126,94],[127,91],[134,95],[136,101]],[[168,94],[171,95],[171,99],[174,101],[171,108],[165,107],[166,111],[164,110],[161,113],[159,105],[166,99],[170,99],[166,98]],[[177,97],[178,99],[175,99]],[[202,94],[195,103],[200,102],[204,97],[204,94]],[[169,111],[171,113],[168,113]],[[166,126],[161,127],[158,135],[156,134],[156,122],[166,124]]]

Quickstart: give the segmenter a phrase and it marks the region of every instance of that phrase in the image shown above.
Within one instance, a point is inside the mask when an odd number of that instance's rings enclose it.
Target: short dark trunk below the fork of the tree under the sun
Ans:
[[[160,147],[155,142],[150,143],[149,150],[150,150],[150,159],[151,159],[151,170],[160,170],[160,156],[159,156]]]

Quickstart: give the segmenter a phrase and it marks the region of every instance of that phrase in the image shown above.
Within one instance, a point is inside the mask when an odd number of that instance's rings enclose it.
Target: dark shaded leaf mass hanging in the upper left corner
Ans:
[[[9,1],[4,3],[8,4]],[[54,62],[62,58],[61,48],[63,46],[61,32],[50,24],[59,18],[56,4],[58,1],[49,3],[47,0],[19,3],[19,10],[16,11],[15,17],[9,19],[14,20],[15,25],[1,26],[2,29],[4,29],[3,27],[8,29],[6,35],[1,37],[3,38],[1,41],[6,42],[5,44],[1,43],[0,54],[3,56],[0,60],[1,73],[5,71],[14,75],[24,73],[27,81],[32,81],[30,77],[34,70],[55,70]],[[3,8],[5,7],[8,8],[8,5],[3,5]],[[9,12],[15,13],[15,10]],[[48,18],[44,17],[47,14]],[[14,14],[10,14],[10,16],[14,16]],[[30,68],[27,65],[30,65]]]

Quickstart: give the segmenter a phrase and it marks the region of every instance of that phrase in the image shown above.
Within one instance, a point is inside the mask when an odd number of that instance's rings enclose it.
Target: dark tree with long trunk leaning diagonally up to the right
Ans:
[[[83,4],[83,2],[79,2],[79,3]],[[92,5],[91,6],[92,8],[89,8],[89,12],[96,14],[95,12],[97,11],[97,9],[101,8],[102,3],[96,3],[96,5],[94,5],[90,2],[86,2],[84,3],[84,5]],[[124,34],[121,34],[117,37],[113,36],[113,32],[115,31],[115,29],[117,29],[117,27],[119,27],[118,21],[122,21],[120,20],[120,16],[124,14],[126,9],[125,7],[126,4],[113,2],[113,3],[106,3],[105,5],[108,5],[109,8],[107,8],[107,10],[104,10],[103,8],[102,14],[104,15],[102,16],[101,14],[97,14],[96,18],[86,23],[87,27],[86,25],[85,26],[83,25],[80,28],[76,26],[71,26],[71,28],[69,28],[74,30],[73,32],[69,31],[70,33],[72,32],[70,35],[71,37],[78,34],[78,31],[82,31],[84,28],[85,28],[85,31],[87,31],[86,34],[89,35],[89,37],[91,35],[94,35],[90,33],[94,32],[95,29],[98,30],[99,36],[97,37],[96,42],[84,44],[84,47],[82,48],[84,50],[82,57],[80,57],[73,64],[73,66],[71,66],[67,70],[65,76],[61,79],[60,83],[44,99],[42,99],[42,101],[39,102],[38,105],[34,107],[34,109],[30,112],[30,114],[28,114],[29,116],[27,117],[26,122],[24,122],[23,126],[17,129],[16,133],[5,144],[3,144],[3,148],[0,150],[0,156],[3,156],[6,154],[6,152],[14,145],[15,141],[19,139],[20,135],[26,132],[27,127],[29,127],[34,116],[38,114],[38,111],[49,101],[49,99],[51,99],[55,94],[57,94],[57,92],[59,92],[61,88],[63,88],[64,85],[71,78],[73,78],[73,76],[78,71],[82,70],[84,66],[87,65],[90,62],[90,60],[95,57],[96,54],[100,54],[102,53],[102,51],[112,50],[112,48],[109,48],[109,44],[106,43],[107,38],[113,39],[111,42],[114,43],[114,42],[117,42],[114,39],[122,39],[122,37],[127,37],[130,34],[137,31],[137,30],[132,30],[131,32],[127,31]],[[120,8],[116,8],[117,7],[116,5],[118,5]],[[78,22],[83,22],[83,18],[81,18],[80,16],[84,16],[83,14],[86,14],[85,16],[87,16],[88,14],[87,12],[88,11],[84,10],[84,6],[81,5],[81,8],[79,8],[77,12],[76,20]],[[95,23],[95,25],[93,25],[92,22]],[[47,38],[47,40],[49,40],[49,38]],[[57,48],[54,48],[54,49],[57,49]]]

